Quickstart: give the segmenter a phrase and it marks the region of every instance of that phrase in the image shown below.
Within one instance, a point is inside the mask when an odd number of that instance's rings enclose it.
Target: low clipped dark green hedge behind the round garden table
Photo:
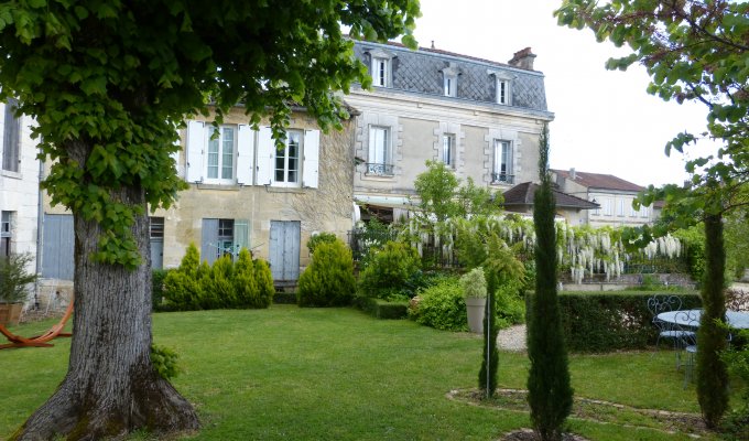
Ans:
[[[525,295],[527,305],[531,295]],[[682,299],[684,310],[702,305],[697,292],[560,292],[562,330],[567,348],[578,353],[606,353],[644,349],[654,345],[658,330],[647,305],[648,299],[653,295],[676,295]]]

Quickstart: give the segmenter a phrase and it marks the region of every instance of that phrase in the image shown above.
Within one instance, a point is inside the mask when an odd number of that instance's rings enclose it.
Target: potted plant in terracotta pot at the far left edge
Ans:
[[[29,297],[29,284],[36,281],[35,273],[26,272],[31,262],[29,254],[0,258],[0,324],[18,324],[23,303]]]

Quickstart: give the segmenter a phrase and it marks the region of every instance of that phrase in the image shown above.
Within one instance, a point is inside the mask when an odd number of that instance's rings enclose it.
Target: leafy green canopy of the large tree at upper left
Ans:
[[[44,187],[101,227],[104,262],[134,268],[129,233],[142,206],[112,191],[143,191],[167,207],[184,187],[170,153],[186,117],[216,119],[241,104],[269,115],[282,138],[293,105],[323,128],[345,117],[334,90],[367,87],[354,37],[412,36],[415,0],[210,2],[29,0],[0,4],[0,99],[36,118],[33,136],[54,162]]]

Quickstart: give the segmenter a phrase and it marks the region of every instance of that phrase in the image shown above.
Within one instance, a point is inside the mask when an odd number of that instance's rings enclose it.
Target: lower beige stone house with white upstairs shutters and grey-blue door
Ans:
[[[151,214],[152,267],[177,267],[189,244],[209,263],[247,247],[270,262],[278,284],[295,283],[308,262],[311,235],[332,232],[346,240],[354,212],[351,121],[324,133],[296,108],[276,149],[268,121],[253,130],[248,120],[237,107],[217,129],[211,118],[186,121],[174,159],[189,187],[169,209]],[[45,243],[59,256],[45,277],[73,277],[73,244],[63,241],[73,233],[72,218],[46,204],[45,237],[48,232],[61,240]]]

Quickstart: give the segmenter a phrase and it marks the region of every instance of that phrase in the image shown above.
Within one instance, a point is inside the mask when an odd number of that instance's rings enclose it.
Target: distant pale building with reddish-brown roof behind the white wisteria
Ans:
[[[644,187],[611,174],[552,170],[558,189],[573,196],[598,204],[598,208],[584,212],[579,224],[598,226],[638,226],[650,224],[654,216],[651,207],[632,208],[632,200]]]

